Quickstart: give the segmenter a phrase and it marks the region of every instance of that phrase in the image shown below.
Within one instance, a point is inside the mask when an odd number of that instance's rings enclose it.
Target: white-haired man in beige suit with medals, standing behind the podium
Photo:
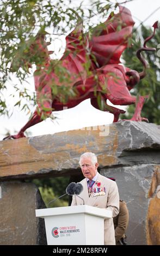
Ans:
[[[96,155],[91,152],[84,153],[80,157],[79,164],[85,177],[80,182],[83,185],[83,191],[79,194],[84,199],[84,203],[98,208],[109,209],[112,211],[112,217],[118,215],[118,187],[115,181],[97,172],[99,164]],[[73,196],[71,205],[83,204],[81,198]],[[113,218],[104,219],[104,245],[115,245]]]

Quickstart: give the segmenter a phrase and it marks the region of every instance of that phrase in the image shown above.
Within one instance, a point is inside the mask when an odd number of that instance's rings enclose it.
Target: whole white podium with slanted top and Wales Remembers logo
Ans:
[[[89,205],[35,210],[45,218],[48,245],[104,245],[104,218],[112,211]]]

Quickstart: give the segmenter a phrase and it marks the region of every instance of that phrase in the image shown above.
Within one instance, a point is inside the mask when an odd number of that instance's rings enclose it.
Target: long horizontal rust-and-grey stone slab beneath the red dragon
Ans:
[[[156,125],[125,121],[95,128],[0,141],[0,180],[78,173],[79,155],[86,151],[99,157],[100,167],[159,163]]]

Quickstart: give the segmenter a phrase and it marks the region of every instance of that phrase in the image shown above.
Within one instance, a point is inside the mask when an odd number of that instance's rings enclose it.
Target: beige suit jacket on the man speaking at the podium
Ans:
[[[116,182],[101,174],[97,176],[97,181],[101,182],[100,187],[106,188],[104,196],[89,197],[87,179],[85,178],[80,182],[83,185],[83,191],[79,194],[79,197],[83,198],[84,204],[112,210],[112,217],[115,217],[119,213],[119,193]],[[96,187],[95,184],[94,188]],[[83,200],[74,195],[71,205],[82,205]],[[104,245],[115,245],[113,218],[104,219]]]

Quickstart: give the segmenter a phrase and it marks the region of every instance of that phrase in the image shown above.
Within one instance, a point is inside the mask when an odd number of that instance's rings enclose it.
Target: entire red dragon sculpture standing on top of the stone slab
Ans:
[[[108,106],[107,99],[114,105],[136,103],[136,110],[131,120],[147,121],[140,116],[146,96],[139,96],[137,101],[137,98],[130,94],[130,90],[145,76],[147,63],[141,56],[141,51],[156,50],[146,47],[146,42],[155,34],[157,22],[153,25],[153,34],[145,40],[144,47],[137,52],[137,57],[144,65],[144,70],[138,73],[120,64],[120,57],[131,37],[134,21],[130,10],[122,6],[119,8],[118,14],[110,15],[106,22],[93,29],[91,38],[89,34],[84,34],[82,26],[78,25],[66,36],[66,50],[56,63],[50,58],[52,52],[48,51],[44,33],[35,36],[35,40],[28,47],[29,50],[24,53],[24,59],[16,54],[11,65],[13,71],[20,68],[20,57],[27,68],[33,63],[36,64],[34,81],[38,108],[17,135],[10,135],[4,139],[26,137],[24,131],[40,123],[44,118],[50,117],[53,110],[75,107],[85,99],[90,99],[91,105],[101,109],[97,97],[104,102],[103,110],[114,114],[114,122],[118,121],[119,114],[125,111]],[[34,61],[34,57],[35,59],[40,57],[39,63]],[[87,66],[87,63],[90,65]],[[61,67],[60,70],[63,70],[63,75],[58,74],[58,65]],[[54,93],[55,88],[61,93]],[[67,100],[64,100],[63,89],[66,88],[68,92],[72,90],[75,93],[69,93]]]

